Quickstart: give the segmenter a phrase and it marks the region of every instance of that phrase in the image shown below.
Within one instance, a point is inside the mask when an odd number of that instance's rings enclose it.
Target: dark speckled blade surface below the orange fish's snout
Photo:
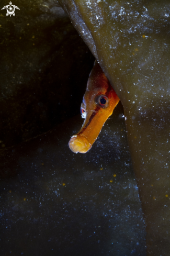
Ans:
[[[1,150],[2,255],[146,255],[121,103],[93,148],[75,154],[67,142],[82,124],[78,115]]]

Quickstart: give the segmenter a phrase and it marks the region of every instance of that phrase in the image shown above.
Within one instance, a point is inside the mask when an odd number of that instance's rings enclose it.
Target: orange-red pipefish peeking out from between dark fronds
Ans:
[[[81,105],[82,117],[85,121],[82,129],[69,141],[69,147],[73,152],[86,153],[92,147],[118,102],[116,92],[95,61]]]

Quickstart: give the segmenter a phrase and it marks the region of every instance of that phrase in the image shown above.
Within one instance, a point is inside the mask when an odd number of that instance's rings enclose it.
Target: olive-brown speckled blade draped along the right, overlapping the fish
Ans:
[[[58,2],[123,104],[148,255],[169,255],[169,2]]]

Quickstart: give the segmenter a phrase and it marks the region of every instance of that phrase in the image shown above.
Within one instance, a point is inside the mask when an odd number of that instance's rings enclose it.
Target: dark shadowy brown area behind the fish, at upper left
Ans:
[[[79,114],[94,63],[55,2],[16,0],[14,4],[20,8],[15,9],[15,17],[7,17],[6,9],[0,15],[2,149]]]

